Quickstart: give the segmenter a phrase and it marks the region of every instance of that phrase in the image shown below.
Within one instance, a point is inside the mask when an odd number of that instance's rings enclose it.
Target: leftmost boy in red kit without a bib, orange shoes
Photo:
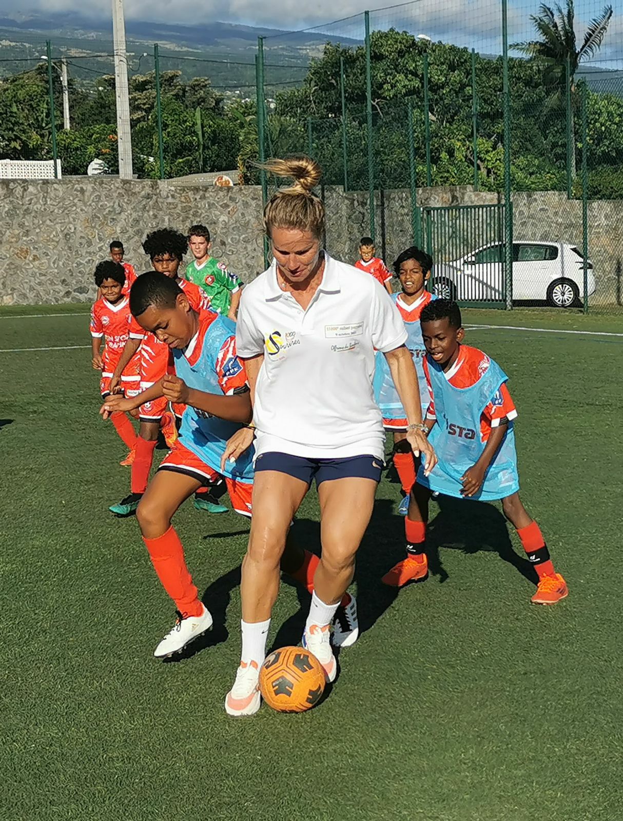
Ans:
[[[121,358],[121,351],[128,340],[130,333],[130,300],[123,296],[126,284],[126,272],[123,266],[112,260],[100,262],[95,268],[95,284],[102,294],[101,299],[94,302],[91,308],[90,331],[92,338],[92,365],[102,373],[99,390],[102,398],[110,394],[112,374]],[[105,343],[101,353],[102,341]],[[138,363],[134,360],[128,363],[121,372],[121,388],[126,396],[136,396],[139,392]],[[129,453],[121,461],[121,465],[131,465],[134,461],[136,447],[136,433],[126,414],[117,411],[112,414],[112,424],[126,444]]]

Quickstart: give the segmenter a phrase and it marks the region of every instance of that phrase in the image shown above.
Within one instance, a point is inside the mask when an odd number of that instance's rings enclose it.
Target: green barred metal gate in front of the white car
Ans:
[[[433,257],[428,289],[474,308],[506,308],[511,272],[506,265],[504,204],[421,209],[422,245]]]

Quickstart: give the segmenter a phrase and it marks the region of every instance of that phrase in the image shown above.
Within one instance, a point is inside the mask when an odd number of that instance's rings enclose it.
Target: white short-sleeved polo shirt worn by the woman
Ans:
[[[374,401],[374,352],[406,342],[387,291],[368,273],[325,253],[323,280],[303,310],[277,282],[277,264],[242,291],[236,351],[263,353],[255,389],[256,453],[383,459]]]

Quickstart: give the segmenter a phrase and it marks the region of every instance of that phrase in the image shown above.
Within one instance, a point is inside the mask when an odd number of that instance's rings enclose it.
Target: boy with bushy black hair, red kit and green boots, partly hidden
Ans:
[[[172,228],[160,228],[147,235],[143,243],[145,254],[149,255],[154,270],[171,277],[181,287],[182,291],[190,303],[193,310],[201,313],[209,310],[209,300],[204,291],[192,282],[178,277],[177,272],[181,261],[188,250],[186,236]],[[140,349],[140,353],[139,352]],[[140,324],[132,319],[130,325],[130,338],[126,342],[121,358],[111,379],[111,393],[115,392],[121,380],[121,373],[126,365],[138,353],[140,357],[140,390],[151,388],[158,383],[167,372],[168,349],[166,344],[160,342],[153,333],[148,333],[141,328]],[[132,410],[131,401],[122,397],[110,397],[114,400],[115,410]],[[116,505],[112,505],[109,510],[117,516],[130,516],[139,506],[139,502],[149,480],[149,470],[153,462],[153,450],[158,443],[158,432],[163,424],[163,433],[167,439],[167,445],[172,447],[177,438],[175,419],[167,411],[167,399],[158,397],[153,401],[147,401],[139,409],[139,436],[136,442],[135,460],[132,465],[131,493],[121,499]],[[179,408],[178,410],[181,410]]]

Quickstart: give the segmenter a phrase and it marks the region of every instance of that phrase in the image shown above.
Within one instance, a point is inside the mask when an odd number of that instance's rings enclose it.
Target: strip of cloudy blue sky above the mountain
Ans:
[[[192,25],[202,22],[224,21],[247,25],[266,25],[274,28],[297,30],[317,26],[337,17],[359,15],[365,8],[388,5],[391,0],[124,0],[126,17],[146,21],[172,21]],[[532,36],[529,15],[538,9],[540,0],[509,0],[510,39],[528,39]],[[564,4],[564,0],[561,0]],[[607,0],[575,0],[576,28],[584,25],[599,11]],[[612,2],[612,0],[608,0]],[[554,5],[554,2],[551,2]],[[621,57],[623,43],[623,15],[616,13],[612,20],[602,56]],[[24,8],[46,11],[77,11],[89,16],[108,18],[110,0],[0,0],[2,11],[20,11]],[[409,30],[414,34],[428,34],[459,45],[474,46],[477,50],[497,52],[500,45],[500,0],[417,0],[373,12],[373,28]],[[341,36],[361,36],[362,20],[343,20],[322,27],[323,32]]]

